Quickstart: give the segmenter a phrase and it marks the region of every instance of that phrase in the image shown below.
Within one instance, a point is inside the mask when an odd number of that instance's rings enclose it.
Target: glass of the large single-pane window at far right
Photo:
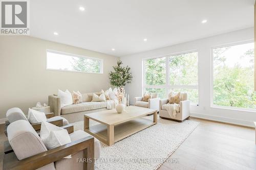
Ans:
[[[214,105],[255,109],[254,43],[215,48],[213,57]]]

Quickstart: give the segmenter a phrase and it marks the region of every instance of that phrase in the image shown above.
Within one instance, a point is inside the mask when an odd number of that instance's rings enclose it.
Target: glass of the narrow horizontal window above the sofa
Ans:
[[[101,60],[47,52],[47,69],[100,73]]]

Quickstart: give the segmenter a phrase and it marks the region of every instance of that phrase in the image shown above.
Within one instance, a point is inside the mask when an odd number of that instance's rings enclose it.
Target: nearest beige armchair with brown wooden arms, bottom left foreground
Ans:
[[[7,128],[7,133],[15,154],[12,152],[4,155],[6,157],[4,169],[93,169],[93,159],[100,157],[99,140],[82,130],[69,134],[71,143],[51,150],[46,148],[44,142],[26,120],[11,123]],[[63,158],[68,155],[72,155],[72,158]],[[86,163],[84,158],[89,158],[92,162],[88,159]]]

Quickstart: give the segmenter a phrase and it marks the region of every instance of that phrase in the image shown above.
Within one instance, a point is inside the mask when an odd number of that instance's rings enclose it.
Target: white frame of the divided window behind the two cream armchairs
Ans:
[[[162,88],[162,89],[165,89],[166,94],[169,94],[169,92],[171,91],[170,89],[172,89],[172,88],[174,88],[174,89],[177,89],[177,88],[197,89],[198,90],[198,103],[191,103],[190,102],[190,105],[199,106],[199,103],[200,103],[200,98],[199,98],[199,95],[200,95],[199,94],[200,93],[199,92],[199,65],[197,67],[197,69],[198,69],[198,85],[170,85],[169,84],[169,57],[188,54],[188,53],[198,53],[198,55],[197,55],[197,65],[198,65],[199,64],[199,51],[198,50],[189,50],[189,51],[183,51],[183,52],[160,55],[160,56],[156,56],[156,57],[143,58],[142,59],[142,95],[144,94],[146,88]],[[145,61],[149,60],[149,59],[158,59],[158,58],[163,58],[163,57],[165,57],[165,84],[164,85],[146,85]]]

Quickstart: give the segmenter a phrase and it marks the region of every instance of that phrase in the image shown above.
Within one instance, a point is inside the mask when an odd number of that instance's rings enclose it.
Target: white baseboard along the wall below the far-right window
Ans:
[[[247,127],[252,127],[252,128],[255,127],[254,123],[250,122],[248,120],[240,120],[240,119],[220,117],[220,116],[214,116],[214,115],[206,115],[206,114],[201,114],[201,113],[190,113],[190,116],[208,119],[208,120],[215,120],[218,122],[223,122],[223,123],[228,123],[228,124],[241,125],[241,126],[247,126]]]

